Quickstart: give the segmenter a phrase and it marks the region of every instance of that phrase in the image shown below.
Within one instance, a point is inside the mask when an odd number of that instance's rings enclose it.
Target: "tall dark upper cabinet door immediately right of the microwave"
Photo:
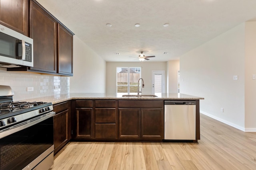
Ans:
[[[34,66],[30,70],[57,72],[57,23],[30,1],[30,37],[34,40]]]

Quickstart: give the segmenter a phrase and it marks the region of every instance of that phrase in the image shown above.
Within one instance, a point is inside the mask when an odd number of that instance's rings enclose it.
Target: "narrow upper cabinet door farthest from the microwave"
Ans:
[[[73,35],[58,24],[58,73],[73,75]]]

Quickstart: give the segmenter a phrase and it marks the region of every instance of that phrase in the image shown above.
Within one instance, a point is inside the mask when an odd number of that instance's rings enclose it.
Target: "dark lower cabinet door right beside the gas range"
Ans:
[[[68,110],[62,111],[53,117],[54,123],[54,152],[60,150],[68,141]]]

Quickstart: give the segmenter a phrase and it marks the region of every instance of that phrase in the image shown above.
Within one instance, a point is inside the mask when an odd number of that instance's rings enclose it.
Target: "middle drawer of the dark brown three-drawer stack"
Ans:
[[[95,123],[116,123],[116,109],[95,109]]]

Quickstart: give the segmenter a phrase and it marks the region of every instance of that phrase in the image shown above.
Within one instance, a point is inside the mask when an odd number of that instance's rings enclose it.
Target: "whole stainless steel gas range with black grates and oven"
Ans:
[[[0,170],[48,170],[53,164],[52,103],[13,102],[0,85]]]

